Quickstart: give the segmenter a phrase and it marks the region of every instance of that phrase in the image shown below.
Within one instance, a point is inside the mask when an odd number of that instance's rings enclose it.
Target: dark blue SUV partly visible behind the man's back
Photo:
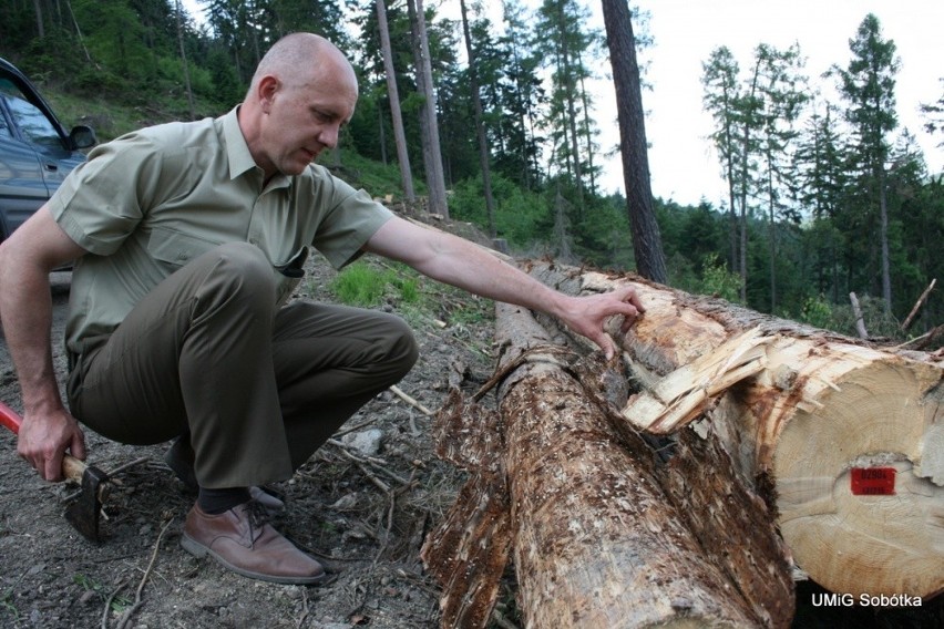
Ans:
[[[95,132],[70,133],[22,72],[0,59],[0,243],[55,192],[95,144]]]

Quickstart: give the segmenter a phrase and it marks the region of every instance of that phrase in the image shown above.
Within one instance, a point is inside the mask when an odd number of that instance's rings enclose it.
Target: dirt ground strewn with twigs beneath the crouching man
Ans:
[[[330,300],[326,287],[334,271],[318,260],[309,261],[307,270],[308,279],[296,297]],[[53,349],[62,381],[70,274],[53,274],[52,282]],[[431,313],[403,312],[421,355],[399,385],[433,411],[445,398],[454,365],[465,367],[470,392],[494,368],[488,305],[445,291],[434,301]],[[400,311],[396,301],[382,308]],[[470,317],[470,311],[479,316]],[[0,400],[21,410],[2,336]],[[181,528],[194,496],[164,465],[167,444],[125,446],[86,430],[91,463],[106,472],[133,464],[117,474],[104,509],[106,538],[96,545],[63,518],[64,501],[76,488],[42,481],[17,456],[13,435],[0,431],[0,627],[438,627],[439,591],[424,574],[419,551],[463,477],[435,457],[431,422],[414,405],[386,392],[346,424],[341,433],[347,435],[336,435],[343,444],[351,435],[379,430],[379,452],[367,455],[353,446],[329,444],[290,481],[275,485],[288,506],[277,527],[330,574],[329,581],[317,587],[254,581],[183,550]],[[509,619],[504,627],[522,625],[515,615],[512,581],[499,601],[500,612]],[[793,627],[944,626],[944,597],[930,601],[921,612],[886,612],[812,607],[819,591],[812,584],[798,587]]]

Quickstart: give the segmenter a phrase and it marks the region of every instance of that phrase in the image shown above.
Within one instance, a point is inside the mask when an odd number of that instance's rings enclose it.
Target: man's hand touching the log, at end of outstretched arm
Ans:
[[[556,314],[573,331],[595,342],[603,350],[606,360],[609,360],[615,354],[616,348],[613,339],[604,330],[606,320],[622,314],[622,331],[626,333],[645,311],[636,289],[626,286],[603,295],[571,297],[564,301],[562,310]]]

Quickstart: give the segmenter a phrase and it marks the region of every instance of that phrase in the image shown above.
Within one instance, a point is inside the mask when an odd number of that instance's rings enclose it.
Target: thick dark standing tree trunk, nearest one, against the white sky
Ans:
[[[619,117],[619,151],[623,154],[623,182],[633,231],[636,268],[645,278],[668,281],[659,225],[653,209],[646,123],[636,63],[636,40],[626,0],[603,0],[606,42],[613,65],[616,106]]]

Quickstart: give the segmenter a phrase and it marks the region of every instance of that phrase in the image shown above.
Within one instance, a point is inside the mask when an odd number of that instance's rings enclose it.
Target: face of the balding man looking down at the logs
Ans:
[[[308,80],[293,82],[271,79],[263,142],[268,176],[276,172],[298,175],[325,148],[338,143],[341,127],[353,115],[357,83],[352,74],[330,63]]]

